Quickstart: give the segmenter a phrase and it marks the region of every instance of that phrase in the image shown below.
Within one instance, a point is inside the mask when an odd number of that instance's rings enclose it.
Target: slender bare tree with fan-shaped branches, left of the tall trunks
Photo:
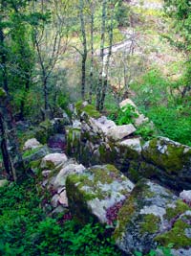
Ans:
[[[38,10],[39,3],[36,3],[34,8]],[[64,16],[67,6],[62,1],[54,0],[48,6],[42,0],[40,8],[44,14],[44,19],[41,20],[40,26],[37,23],[33,27],[32,35],[37,57],[36,73],[40,76],[43,88],[43,111],[45,118],[47,118],[50,115],[51,108],[49,103],[49,81],[56,64],[67,50],[69,24]],[[49,12],[49,8],[52,10],[51,13]]]

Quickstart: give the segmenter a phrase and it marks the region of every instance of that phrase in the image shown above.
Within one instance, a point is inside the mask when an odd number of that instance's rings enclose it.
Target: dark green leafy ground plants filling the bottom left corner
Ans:
[[[47,218],[33,180],[0,188],[0,196],[1,255],[120,255],[103,226]]]

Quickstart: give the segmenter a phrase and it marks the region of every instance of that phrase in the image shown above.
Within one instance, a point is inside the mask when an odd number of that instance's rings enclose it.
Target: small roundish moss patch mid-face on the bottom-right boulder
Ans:
[[[156,233],[159,230],[159,221],[159,217],[154,214],[144,215],[142,222],[140,222],[140,233]]]

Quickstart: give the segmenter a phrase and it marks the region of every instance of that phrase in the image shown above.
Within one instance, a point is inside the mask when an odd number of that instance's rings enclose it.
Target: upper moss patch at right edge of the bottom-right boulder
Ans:
[[[176,202],[176,207],[168,207],[166,209],[166,214],[164,216],[165,219],[168,221],[172,220],[173,218],[179,216],[180,214],[184,213],[185,211],[189,210],[189,206],[184,203],[182,200],[178,200]]]

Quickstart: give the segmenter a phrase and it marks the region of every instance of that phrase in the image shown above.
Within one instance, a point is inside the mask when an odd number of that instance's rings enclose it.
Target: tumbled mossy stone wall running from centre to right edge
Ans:
[[[86,166],[114,164],[134,182],[146,177],[178,191],[191,189],[191,148],[164,137],[144,142],[135,131],[81,104],[67,130],[67,151]]]

